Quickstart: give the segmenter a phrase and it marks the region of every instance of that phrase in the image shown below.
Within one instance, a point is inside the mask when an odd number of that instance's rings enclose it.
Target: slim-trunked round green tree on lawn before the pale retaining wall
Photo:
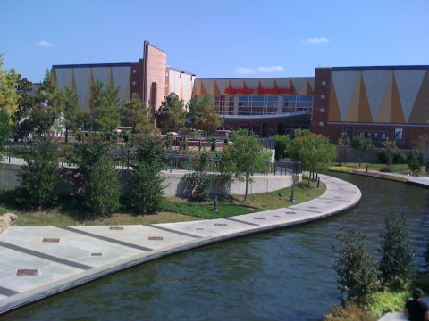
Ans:
[[[269,152],[264,152],[262,146],[251,136],[236,136],[234,144],[223,148],[223,161],[229,163],[227,171],[233,173],[240,182],[246,182],[246,193],[243,202],[248,200],[248,183],[255,173],[264,173],[265,161],[270,159]]]

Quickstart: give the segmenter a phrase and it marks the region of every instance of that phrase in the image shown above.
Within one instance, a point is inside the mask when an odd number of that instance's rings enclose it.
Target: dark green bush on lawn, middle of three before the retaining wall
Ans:
[[[102,156],[85,180],[85,204],[97,215],[107,216],[120,207],[121,185],[114,165]]]

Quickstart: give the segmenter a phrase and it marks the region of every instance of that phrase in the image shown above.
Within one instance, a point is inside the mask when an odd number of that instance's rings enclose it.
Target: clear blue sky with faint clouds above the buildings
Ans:
[[[0,0],[2,69],[139,62],[143,41],[198,78],[311,77],[429,64],[428,0]]]

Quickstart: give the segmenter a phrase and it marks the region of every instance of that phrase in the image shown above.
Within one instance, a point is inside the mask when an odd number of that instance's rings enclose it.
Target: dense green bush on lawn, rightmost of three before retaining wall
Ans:
[[[138,214],[152,214],[161,209],[164,198],[159,169],[144,161],[130,171],[129,205]]]

